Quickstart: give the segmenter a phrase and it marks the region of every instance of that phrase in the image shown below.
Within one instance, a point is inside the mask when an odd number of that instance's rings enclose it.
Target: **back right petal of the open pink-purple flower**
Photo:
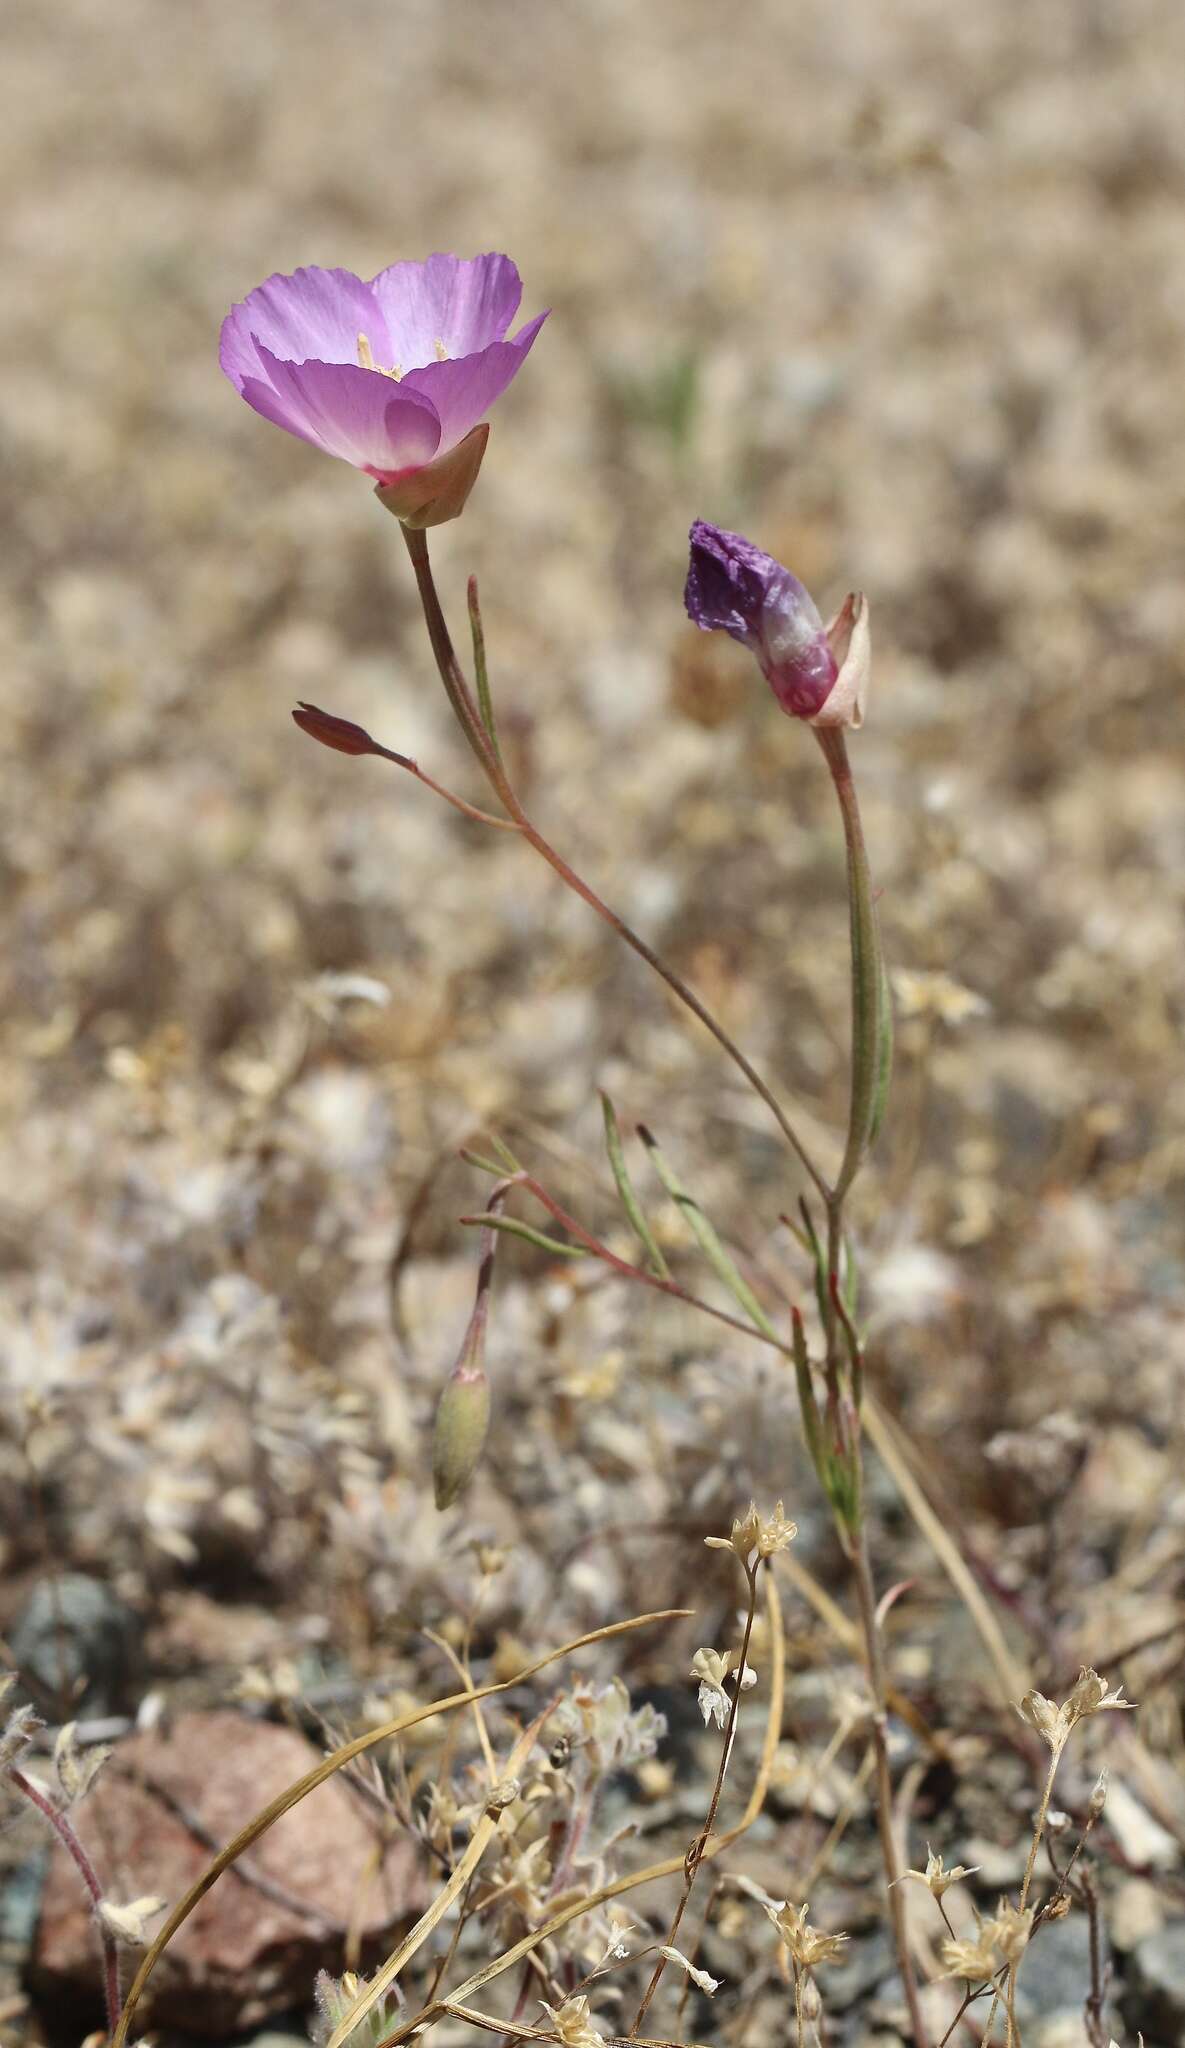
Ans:
[[[430,256],[395,262],[370,281],[389,338],[387,369],[415,371],[436,360],[436,342],[448,356],[473,356],[501,342],[522,299],[522,281],[510,256]]]

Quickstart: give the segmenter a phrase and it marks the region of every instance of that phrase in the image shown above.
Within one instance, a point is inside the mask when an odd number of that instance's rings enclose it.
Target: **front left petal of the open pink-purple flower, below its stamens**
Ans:
[[[280,362],[264,346],[258,354],[266,383],[248,377],[242,395],[289,434],[372,475],[415,469],[436,455],[440,420],[420,391],[356,362]]]

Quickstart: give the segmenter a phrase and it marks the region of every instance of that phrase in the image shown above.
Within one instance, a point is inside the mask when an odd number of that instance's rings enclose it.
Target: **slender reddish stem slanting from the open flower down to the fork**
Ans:
[[[628,926],[624,922],[624,918],[618,918],[616,909],[612,909],[596,893],[596,889],[589,889],[589,885],[575,872],[575,868],[569,866],[569,862],[563,858],[563,854],[559,854],[555,850],[555,846],[551,846],[551,842],[544,840],[542,831],[538,831],[536,825],[532,825],[530,817],[522,809],[522,803],[518,801],[518,797],[516,797],[516,793],[514,793],[514,788],[512,788],[512,784],[508,780],[506,768],[501,766],[501,762],[499,762],[499,758],[497,758],[497,754],[493,750],[493,743],[491,743],[491,739],[489,739],[489,735],[487,735],[487,731],[485,731],[485,727],[481,723],[481,713],[477,709],[477,702],[473,700],[469,684],[467,684],[467,680],[465,680],[465,676],[460,672],[460,664],[458,664],[456,651],[452,647],[448,625],[446,625],[444,612],[440,608],[440,596],[436,592],[436,582],[434,582],[434,575],[432,575],[432,563],[428,559],[428,537],[426,537],[426,532],[422,532],[418,528],[407,528],[405,526],[403,528],[403,539],[407,543],[407,553],[411,557],[411,567],[415,569],[415,584],[420,588],[420,602],[424,606],[424,621],[428,625],[428,639],[432,641],[432,653],[436,655],[436,668],[440,670],[440,680],[444,684],[448,702],[452,705],[452,709],[456,713],[456,719],[460,723],[460,729],[463,729],[465,737],[469,739],[469,745],[473,748],[477,760],[481,762],[481,768],[483,768],[483,772],[485,772],[491,788],[495,788],[497,795],[501,797],[501,803],[506,805],[510,817],[514,819],[514,823],[522,831],[524,840],[530,846],[534,846],[536,854],[540,854],[546,860],[546,864],[553,868],[553,872],[559,874],[561,883],[567,889],[571,889],[573,895],[581,897],[581,901],[587,903],[587,907],[591,911],[596,911],[596,915],[604,924],[608,924],[610,930],[616,932],[616,936],[620,940],[624,940],[624,944],[630,946],[630,950],[637,952],[639,958],[645,961],[647,967],[653,969],[653,973],[659,975],[661,981],[667,983],[667,987],[679,997],[679,1001],[692,1012],[692,1016],[696,1016],[700,1020],[700,1024],[704,1026],[704,1030],[708,1030],[712,1034],[712,1038],[729,1055],[729,1059],[733,1061],[733,1065],[741,1069],[741,1073],[749,1081],[749,1087],[753,1087],[753,1092],[761,1098],[761,1102],[765,1104],[765,1108],[774,1116],[774,1122],[782,1130],[782,1137],[786,1139],[786,1143],[790,1145],[790,1149],[798,1157],[798,1161],[804,1167],[804,1171],[815,1182],[815,1186],[817,1186],[819,1194],[823,1196],[823,1200],[827,1200],[829,1190],[827,1190],[827,1182],[823,1180],[823,1174],[819,1171],[819,1167],[810,1159],[810,1153],[802,1145],[802,1139],[794,1130],[794,1124],[786,1116],[786,1110],[782,1108],[782,1104],[774,1096],[774,1090],[767,1085],[767,1081],[761,1079],[761,1075],[757,1073],[757,1069],[753,1067],[753,1063],[745,1057],[745,1053],[741,1051],[741,1047],[729,1036],[729,1032],[725,1030],[725,1026],[716,1022],[716,1018],[712,1016],[712,1012],[706,1008],[706,1004],[700,1001],[700,997],[696,995],[696,991],[688,987],[688,983],[682,979],[682,975],[677,975],[673,967],[667,967],[667,963],[653,950],[653,946],[647,946],[645,938],[641,938],[632,930],[632,926]]]

